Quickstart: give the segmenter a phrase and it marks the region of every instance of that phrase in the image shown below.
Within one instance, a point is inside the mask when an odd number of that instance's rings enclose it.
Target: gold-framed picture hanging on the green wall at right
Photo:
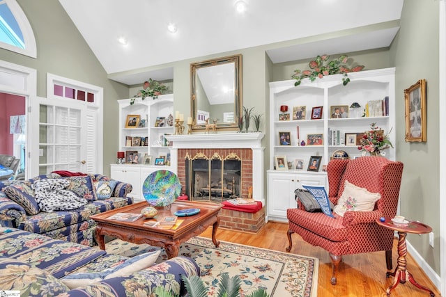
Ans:
[[[406,142],[426,142],[426,80],[420,79],[404,90]]]

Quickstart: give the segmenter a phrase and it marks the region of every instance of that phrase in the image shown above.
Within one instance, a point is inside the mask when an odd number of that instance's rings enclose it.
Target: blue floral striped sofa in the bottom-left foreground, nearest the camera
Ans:
[[[155,296],[157,287],[185,296],[181,276],[200,275],[193,259],[162,261],[156,249],[128,258],[15,228],[0,232],[1,289],[20,296]]]

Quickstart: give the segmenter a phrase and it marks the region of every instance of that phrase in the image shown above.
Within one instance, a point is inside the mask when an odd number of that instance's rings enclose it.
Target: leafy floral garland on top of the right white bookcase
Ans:
[[[330,74],[344,74],[342,83],[346,86],[350,81],[348,78],[349,72],[358,72],[364,69],[362,65],[351,68],[347,67],[347,55],[342,55],[332,61],[328,61],[329,58],[330,56],[328,55],[317,56],[316,59],[310,61],[308,64],[311,70],[294,70],[295,74],[291,76],[291,78],[296,80],[294,86],[299,86],[302,79],[309,78],[310,81],[314,81],[316,77],[322,79]]]

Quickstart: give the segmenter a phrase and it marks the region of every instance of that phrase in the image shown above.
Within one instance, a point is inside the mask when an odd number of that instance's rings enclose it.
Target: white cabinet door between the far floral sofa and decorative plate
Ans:
[[[142,199],[141,195],[141,170],[138,166],[111,165],[110,177],[120,182],[127,182],[132,185],[133,190],[129,196],[137,201]]]

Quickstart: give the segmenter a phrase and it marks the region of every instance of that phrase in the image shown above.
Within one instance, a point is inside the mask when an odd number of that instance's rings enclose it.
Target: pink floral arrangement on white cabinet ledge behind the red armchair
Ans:
[[[362,154],[369,152],[371,156],[385,155],[385,152],[381,151],[388,147],[393,147],[389,134],[384,134],[384,131],[376,126],[375,122],[371,123],[370,127],[370,130],[364,132],[364,136],[360,140],[360,146],[357,149],[362,150]]]

